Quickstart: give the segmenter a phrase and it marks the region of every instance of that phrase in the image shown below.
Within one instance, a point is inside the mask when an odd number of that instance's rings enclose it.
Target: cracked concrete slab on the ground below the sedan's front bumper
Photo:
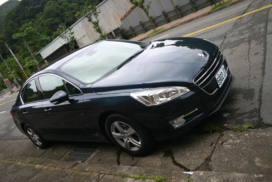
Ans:
[[[210,158],[219,137],[220,132],[190,132],[181,138],[159,142],[153,153],[142,157],[135,166],[182,172],[197,170]]]

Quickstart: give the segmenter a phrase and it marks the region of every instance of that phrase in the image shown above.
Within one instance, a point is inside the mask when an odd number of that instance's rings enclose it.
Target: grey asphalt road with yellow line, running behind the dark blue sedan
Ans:
[[[272,22],[272,12],[271,8],[259,10],[271,4],[272,0],[244,0],[146,39],[150,41],[181,37],[257,10],[191,35],[217,44],[225,54],[230,71],[235,76],[225,103],[217,113],[207,119],[208,121],[216,121],[220,126],[227,124],[227,127],[244,123],[263,128],[271,126],[272,25],[268,23]],[[16,96],[15,93],[0,98],[0,140],[27,138],[15,127],[9,115]]]

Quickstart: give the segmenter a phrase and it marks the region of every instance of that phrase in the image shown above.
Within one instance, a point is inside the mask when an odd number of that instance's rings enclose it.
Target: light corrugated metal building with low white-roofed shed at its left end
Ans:
[[[97,10],[101,11],[98,14],[99,24],[104,28],[106,33],[114,34],[113,31],[122,25],[121,18],[133,5],[130,3],[130,0],[104,0],[96,7]],[[99,37],[99,34],[92,28],[91,22],[85,17],[75,22],[71,28],[79,48],[95,42]],[[52,62],[68,53],[66,44],[65,40],[57,37],[36,55],[40,54],[45,62]]]

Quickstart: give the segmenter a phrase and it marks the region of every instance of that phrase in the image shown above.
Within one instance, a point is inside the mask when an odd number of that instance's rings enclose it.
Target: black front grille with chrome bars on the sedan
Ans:
[[[227,69],[227,63],[221,51],[219,49],[216,50],[212,61],[207,64],[193,79],[193,82],[202,88],[205,92],[212,94],[217,89],[217,84],[211,84],[215,81],[215,75],[218,70],[221,68],[222,64],[225,65]],[[228,70],[227,70],[228,72]]]

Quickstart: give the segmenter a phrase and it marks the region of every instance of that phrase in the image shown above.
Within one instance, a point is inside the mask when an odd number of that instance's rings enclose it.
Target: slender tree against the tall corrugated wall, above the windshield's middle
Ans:
[[[89,5],[87,8],[85,8],[82,11],[82,14],[88,18],[88,21],[92,23],[92,28],[94,28],[94,31],[99,33],[99,38],[98,40],[105,40],[107,39],[107,34],[104,31],[103,27],[99,25],[99,19],[98,19],[98,14],[101,11],[98,10],[95,5]]]

